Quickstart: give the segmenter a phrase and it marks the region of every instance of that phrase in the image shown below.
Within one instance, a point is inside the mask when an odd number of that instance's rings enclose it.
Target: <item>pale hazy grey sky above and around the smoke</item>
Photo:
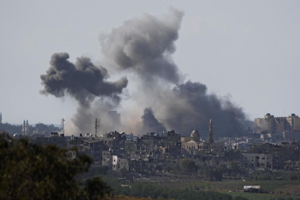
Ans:
[[[102,59],[98,35],[145,12],[185,12],[173,58],[250,119],[300,115],[300,1],[0,1],[3,122],[60,123],[75,100],[39,94],[53,53]],[[104,66],[109,69],[109,66]]]

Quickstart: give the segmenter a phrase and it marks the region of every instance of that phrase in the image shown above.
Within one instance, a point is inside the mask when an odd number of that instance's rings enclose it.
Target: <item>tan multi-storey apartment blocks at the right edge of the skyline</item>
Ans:
[[[274,115],[267,113],[264,118],[254,119],[255,133],[282,134],[286,130],[300,130],[300,118],[297,115],[274,117]]]

